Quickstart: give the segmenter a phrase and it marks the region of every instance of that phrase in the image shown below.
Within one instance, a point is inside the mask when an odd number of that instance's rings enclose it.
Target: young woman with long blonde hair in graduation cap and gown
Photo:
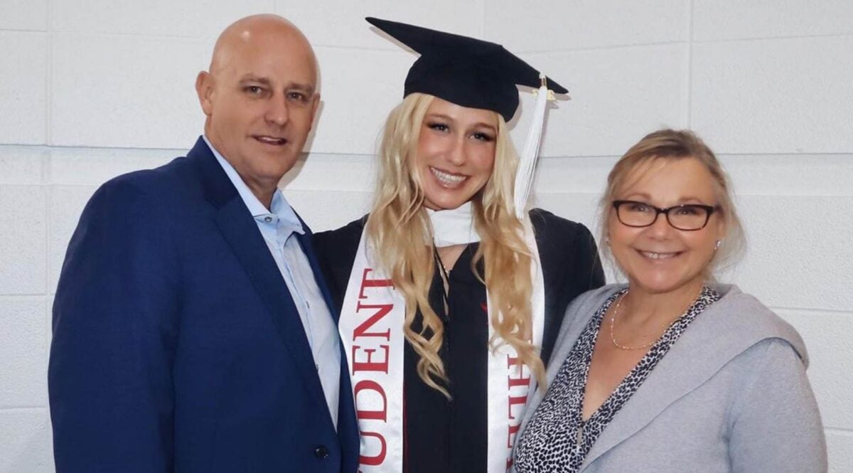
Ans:
[[[316,235],[343,307],[361,464],[503,472],[563,311],[603,283],[595,242],[516,213],[506,122],[535,69],[496,44],[368,20],[421,58],[386,122],[371,212]]]

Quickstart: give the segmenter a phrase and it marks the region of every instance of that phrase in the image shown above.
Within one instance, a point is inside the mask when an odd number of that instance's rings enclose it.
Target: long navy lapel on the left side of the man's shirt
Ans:
[[[290,352],[293,363],[304,378],[311,397],[324,399],[320,377],[314,367],[314,357],[305,336],[305,328],[299,319],[299,312],[293,304],[293,298],[281,277],[281,272],[278,271],[276,261],[270,255],[264,237],[258,231],[258,225],[204,140],[199,138],[188,158],[200,172],[208,200],[218,207],[216,224],[219,231],[229,242],[231,250],[252,281],[252,286],[264,301],[268,315],[276,326],[281,341]]]

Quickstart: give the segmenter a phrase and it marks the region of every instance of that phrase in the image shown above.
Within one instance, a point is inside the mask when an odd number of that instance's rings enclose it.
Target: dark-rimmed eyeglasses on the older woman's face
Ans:
[[[717,207],[702,204],[684,204],[673,207],[654,207],[641,201],[613,201],[616,218],[622,225],[633,227],[651,226],[664,213],[666,221],[677,230],[697,231],[708,225],[711,213]]]

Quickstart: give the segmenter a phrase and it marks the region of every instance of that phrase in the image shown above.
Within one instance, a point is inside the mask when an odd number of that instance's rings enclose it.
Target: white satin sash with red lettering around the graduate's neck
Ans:
[[[530,219],[522,224],[525,242],[533,255],[532,342],[541,347],[545,313],[542,266]],[[392,288],[391,280],[374,264],[372,254],[363,232],[338,327],[350,366],[361,431],[359,471],[400,473],[403,471],[405,302],[403,295]],[[489,307],[489,319],[493,316]],[[493,333],[490,324],[489,335]],[[503,344],[494,353],[488,349],[487,471],[505,473],[511,465],[514,437],[535,379],[526,365],[520,371],[516,367],[517,353],[511,345]]]

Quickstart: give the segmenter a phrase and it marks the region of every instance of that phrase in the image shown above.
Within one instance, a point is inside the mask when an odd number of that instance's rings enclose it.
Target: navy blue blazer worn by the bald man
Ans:
[[[298,237],[336,314],[310,231]],[[53,332],[57,473],[357,469],[346,357],[336,432],[287,285],[201,138],[92,196]]]

